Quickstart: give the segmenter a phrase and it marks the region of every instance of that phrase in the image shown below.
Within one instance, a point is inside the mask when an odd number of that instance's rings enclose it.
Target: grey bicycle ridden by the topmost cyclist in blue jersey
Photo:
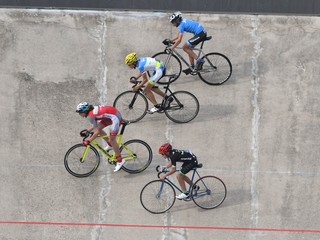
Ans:
[[[194,51],[198,52],[197,57],[201,57],[205,62],[198,70],[190,71],[190,74],[198,75],[203,82],[209,85],[221,85],[230,78],[232,74],[232,65],[230,60],[221,53],[210,52],[206,54],[203,51],[204,42],[211,38],[211,36],[206,37],[206,39],[201,42],[200,48],[193,48]],[[182,47],[176,47],[171,50],[169,47],[172,46],[174,42],[169,39],[165,39],[163,44],[166,45],[164,51],[156,53],[152,57],[164,63],[168,74],[175,74],[177,76],[175,79],[172,79],[172,81],[175,81],[181,74],[181,61],[189,68],[190,64],[177,50],[182,49]]]

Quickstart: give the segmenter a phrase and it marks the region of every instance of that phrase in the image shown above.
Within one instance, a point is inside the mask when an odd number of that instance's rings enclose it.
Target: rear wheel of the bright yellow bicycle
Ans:
[[[144,141],[132,139],[120,147],[122,159],[126,163],[122,169],[128,173],[139,173],[145,170],[152,161],[151,147]]]

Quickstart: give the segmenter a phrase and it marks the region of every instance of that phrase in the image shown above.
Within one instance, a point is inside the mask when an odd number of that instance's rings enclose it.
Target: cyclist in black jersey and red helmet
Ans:
[[[181,169],[179,170],[177,176],[178,182],[180,184],[181,190],[183,191],[181,194],[176,196],[177,199],[185,199],[189,197],[189,192],[187,191],[186,184],[192,184],[191,180],[186,174],[190,172],[194,167],[197,166],[198,160],[197,157],[189,150],[178,150],[172,149],[171,144],[165,143],[159,147],[159,154],[161,154],[164,158],[167,158],[170,162],[166,165],[167,168],[170,168],[170,171],[164,173],[160,176],[160,179],[164,179],[171,174],[176,172],[177,162],[182,162]],[[197,190],[198,186],[195,187]]]

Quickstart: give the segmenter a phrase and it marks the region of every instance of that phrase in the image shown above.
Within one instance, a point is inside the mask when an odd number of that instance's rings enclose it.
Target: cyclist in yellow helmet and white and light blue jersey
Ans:
[[[157,82],[165,74],[165,67],[163,63],[155,58],[138,58],[137,54],[135,52],[132,52],[126,56],[125,64],[127,64],[132,69],[137,68],[139,70],[139,75],[137,77],[132,77],[134,81],[142,77],[142,81],[132,89],[133,91],[137,91],[139,88],[146,84],[144,92],[147,95],[148,99],[154,105],[154,107],[149,110],[149,113],[155,113],[161,110],[161,104],[157,103],[157,100],[152,92],[155,92],[166,99],[168,98],[168,96],[165,96],[165,93],[156,86]],[[150,78],[148,76],[148,72],[152,73]]]

